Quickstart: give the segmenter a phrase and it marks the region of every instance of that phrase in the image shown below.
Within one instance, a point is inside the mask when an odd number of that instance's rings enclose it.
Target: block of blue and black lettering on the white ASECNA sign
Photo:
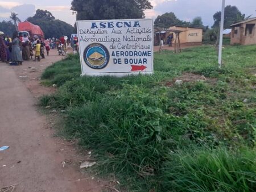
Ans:
[[[108,44],[113,64],[147,65],[152,57],[152,27],[140,21],[91,22],[90,28],[79,30],[80,41]]]

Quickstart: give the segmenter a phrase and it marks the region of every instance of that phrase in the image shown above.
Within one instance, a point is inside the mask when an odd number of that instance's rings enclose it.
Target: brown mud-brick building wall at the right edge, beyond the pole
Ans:
[[[254,25],[251,29],[249,25]],[[240,26],[232,27],[230,44],[251,45],[256,44],[256,20],[242,23]]]

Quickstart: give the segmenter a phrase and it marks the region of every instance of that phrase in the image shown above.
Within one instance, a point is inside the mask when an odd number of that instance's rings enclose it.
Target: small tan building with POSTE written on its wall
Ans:
[[[195,44],[202,43],[203,29],[201,28],[189,28],[189,27],[170,27],[170,30],[180,30],[180,43],[181,44]],[[176,36],[174,34],[174,39]]]

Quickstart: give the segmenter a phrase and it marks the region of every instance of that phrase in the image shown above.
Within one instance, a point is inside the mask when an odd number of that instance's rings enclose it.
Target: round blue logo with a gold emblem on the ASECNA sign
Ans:
[[[100,43],[90,44],[84,50],[84,61],[92,69],[103,69],[109,63],[109,51]]]

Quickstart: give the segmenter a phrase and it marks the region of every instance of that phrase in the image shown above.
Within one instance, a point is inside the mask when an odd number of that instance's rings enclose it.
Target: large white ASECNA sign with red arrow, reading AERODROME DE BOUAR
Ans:
[[[82,75],[153,73],[152,19],[77,21]]]

